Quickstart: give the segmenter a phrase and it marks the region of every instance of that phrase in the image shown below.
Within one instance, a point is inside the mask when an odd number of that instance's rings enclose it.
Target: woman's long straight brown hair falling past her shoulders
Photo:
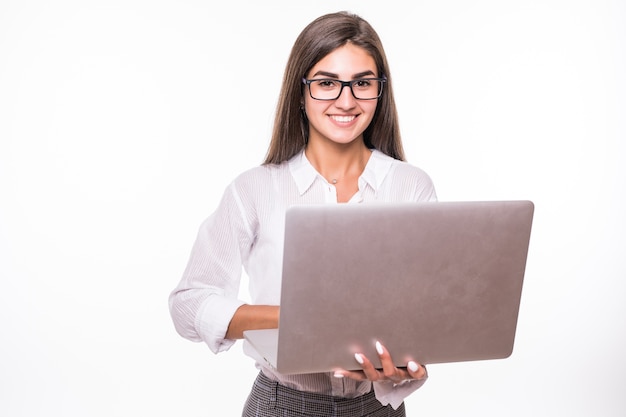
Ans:
[[[304,149],[309,122],[302,108],[302,77],[322,58],[348,42],[365,49],[376,62],[377,76],[387,78],[374,118],[363,132],[365,145],[404,160],[391,75],[382,42],[363,18],[349,12],[337,12],[309,23],[291,49],[264,164],[279,164]]]

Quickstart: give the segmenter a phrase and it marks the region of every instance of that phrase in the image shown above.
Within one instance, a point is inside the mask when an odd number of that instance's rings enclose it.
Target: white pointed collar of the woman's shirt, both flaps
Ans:
[[[389,173],[393,161],[394,159],[392,157],[385,155],[376,149],[372,150],[372,156],[367,161],[365,170],[359,178],[359,183],[361,180],[365,181],[365,183],[372,187],[374,191],[377,191]],[[315,168],[313,168],[313,165],[311,165],[309,160],[306,158],[304,150],[291,158],[288,163],[289,170],[294,181],[296,182],[300,195],[303,195],[309,188],[311,188],[316,178],[322,178],[322,176]]]

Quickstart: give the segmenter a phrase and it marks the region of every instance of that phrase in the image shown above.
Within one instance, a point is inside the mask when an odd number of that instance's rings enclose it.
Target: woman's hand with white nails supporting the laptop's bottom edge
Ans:
[[[389,381],[395,384],[399,384],[408,380],[422,380],[428,375],[426,368],[423,365],[419,365],[417,362],[409,361],[406,368],[397,368],[391,359],[389,351],[376,342],[376,352],[380,358],[382,369],[376,369],[372,362],[361,353],[356,353],[354,358],[363,368],[362,371],[346,371],[344,369],[338,369],[335,371],[335,377],[337,378],[352,378],[358,381],[372,381],[382,382]]]

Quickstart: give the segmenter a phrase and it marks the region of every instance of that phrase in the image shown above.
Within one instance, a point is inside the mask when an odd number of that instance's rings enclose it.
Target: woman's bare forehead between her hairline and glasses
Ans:
[[[360,46],[347,43],[318,61],[307,75],[311,77],[323,72],[346,79],[368,71],[377,75],[374,58]]]

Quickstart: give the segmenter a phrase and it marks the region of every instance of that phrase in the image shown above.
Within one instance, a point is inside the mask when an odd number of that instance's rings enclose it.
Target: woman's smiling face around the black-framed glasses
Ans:
[[[330,78],[351,81],[358,78],[375,78],[376,63],[365,49],[346,44],[326,55],[306,74],[306,78]],[[304,107],[309,120],[309,142],[331,141],[349,144],[363,139],[378,100],[358,100],[349,87],[344,87],[336,100],[315,100],[304,91]]]

